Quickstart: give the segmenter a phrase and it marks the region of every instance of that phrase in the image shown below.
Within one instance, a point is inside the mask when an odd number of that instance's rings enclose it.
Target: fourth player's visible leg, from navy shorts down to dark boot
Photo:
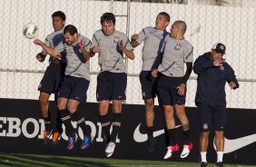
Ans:
[[[146,132],[148,135],[148,150],[154,151],[156,144],[153,138],[153,120],[154,120],[154,97],[156,96],[155,78],[152,77],[150,71],[142,71],[140,74],[140,82],[142,85],[143,100],[145,103],[145,122]]]

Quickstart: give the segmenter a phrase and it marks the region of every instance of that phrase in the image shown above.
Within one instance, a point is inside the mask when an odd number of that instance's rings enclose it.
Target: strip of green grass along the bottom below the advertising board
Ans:
[[[113,167],[195,167],[200,166],[196,162],[171,162],[171,161],[135,161],[135,160],[115,160],[115,159],[97,159],[97,158],[82,158],[82,157],[66,157],[55,155],[32,155],[32,154],[13,154],[0,153],[0,166],[113,166]],[[209,164],[212,167],[213,164]],[[239,165],[225,164],[225,167],[256,167],[256,165]]]

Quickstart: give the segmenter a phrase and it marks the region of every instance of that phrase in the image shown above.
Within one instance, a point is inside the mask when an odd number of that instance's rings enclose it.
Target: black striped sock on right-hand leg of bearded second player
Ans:
[[[74,113],[71,113],[72,118],[74,118],[74,121],[76,121],[77,123],[77,128],[81,128],[83,133],[84,133],[84,137],[91,137],[91,133],[89,131],[89,128],[86,128],[87,126],[85,125],[85,121],[84,121],[84,116],[82,116],[79,111],[75,111]]]

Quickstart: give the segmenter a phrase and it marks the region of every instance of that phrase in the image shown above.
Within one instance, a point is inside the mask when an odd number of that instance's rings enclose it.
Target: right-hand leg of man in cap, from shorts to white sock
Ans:
[[[226,106],[216,106],[213,113],[213,129],[215,132],[215,146],[217,152],[217,162],[214,166],[222,167],[223,150],[224,150],[224,128],[226,122]]]

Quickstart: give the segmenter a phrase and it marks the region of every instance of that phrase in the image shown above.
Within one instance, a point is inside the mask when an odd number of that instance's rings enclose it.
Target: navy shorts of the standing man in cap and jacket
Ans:
[[[224,131],[226,123],[226,105],[197,103],[200,112],[201,132]]]

